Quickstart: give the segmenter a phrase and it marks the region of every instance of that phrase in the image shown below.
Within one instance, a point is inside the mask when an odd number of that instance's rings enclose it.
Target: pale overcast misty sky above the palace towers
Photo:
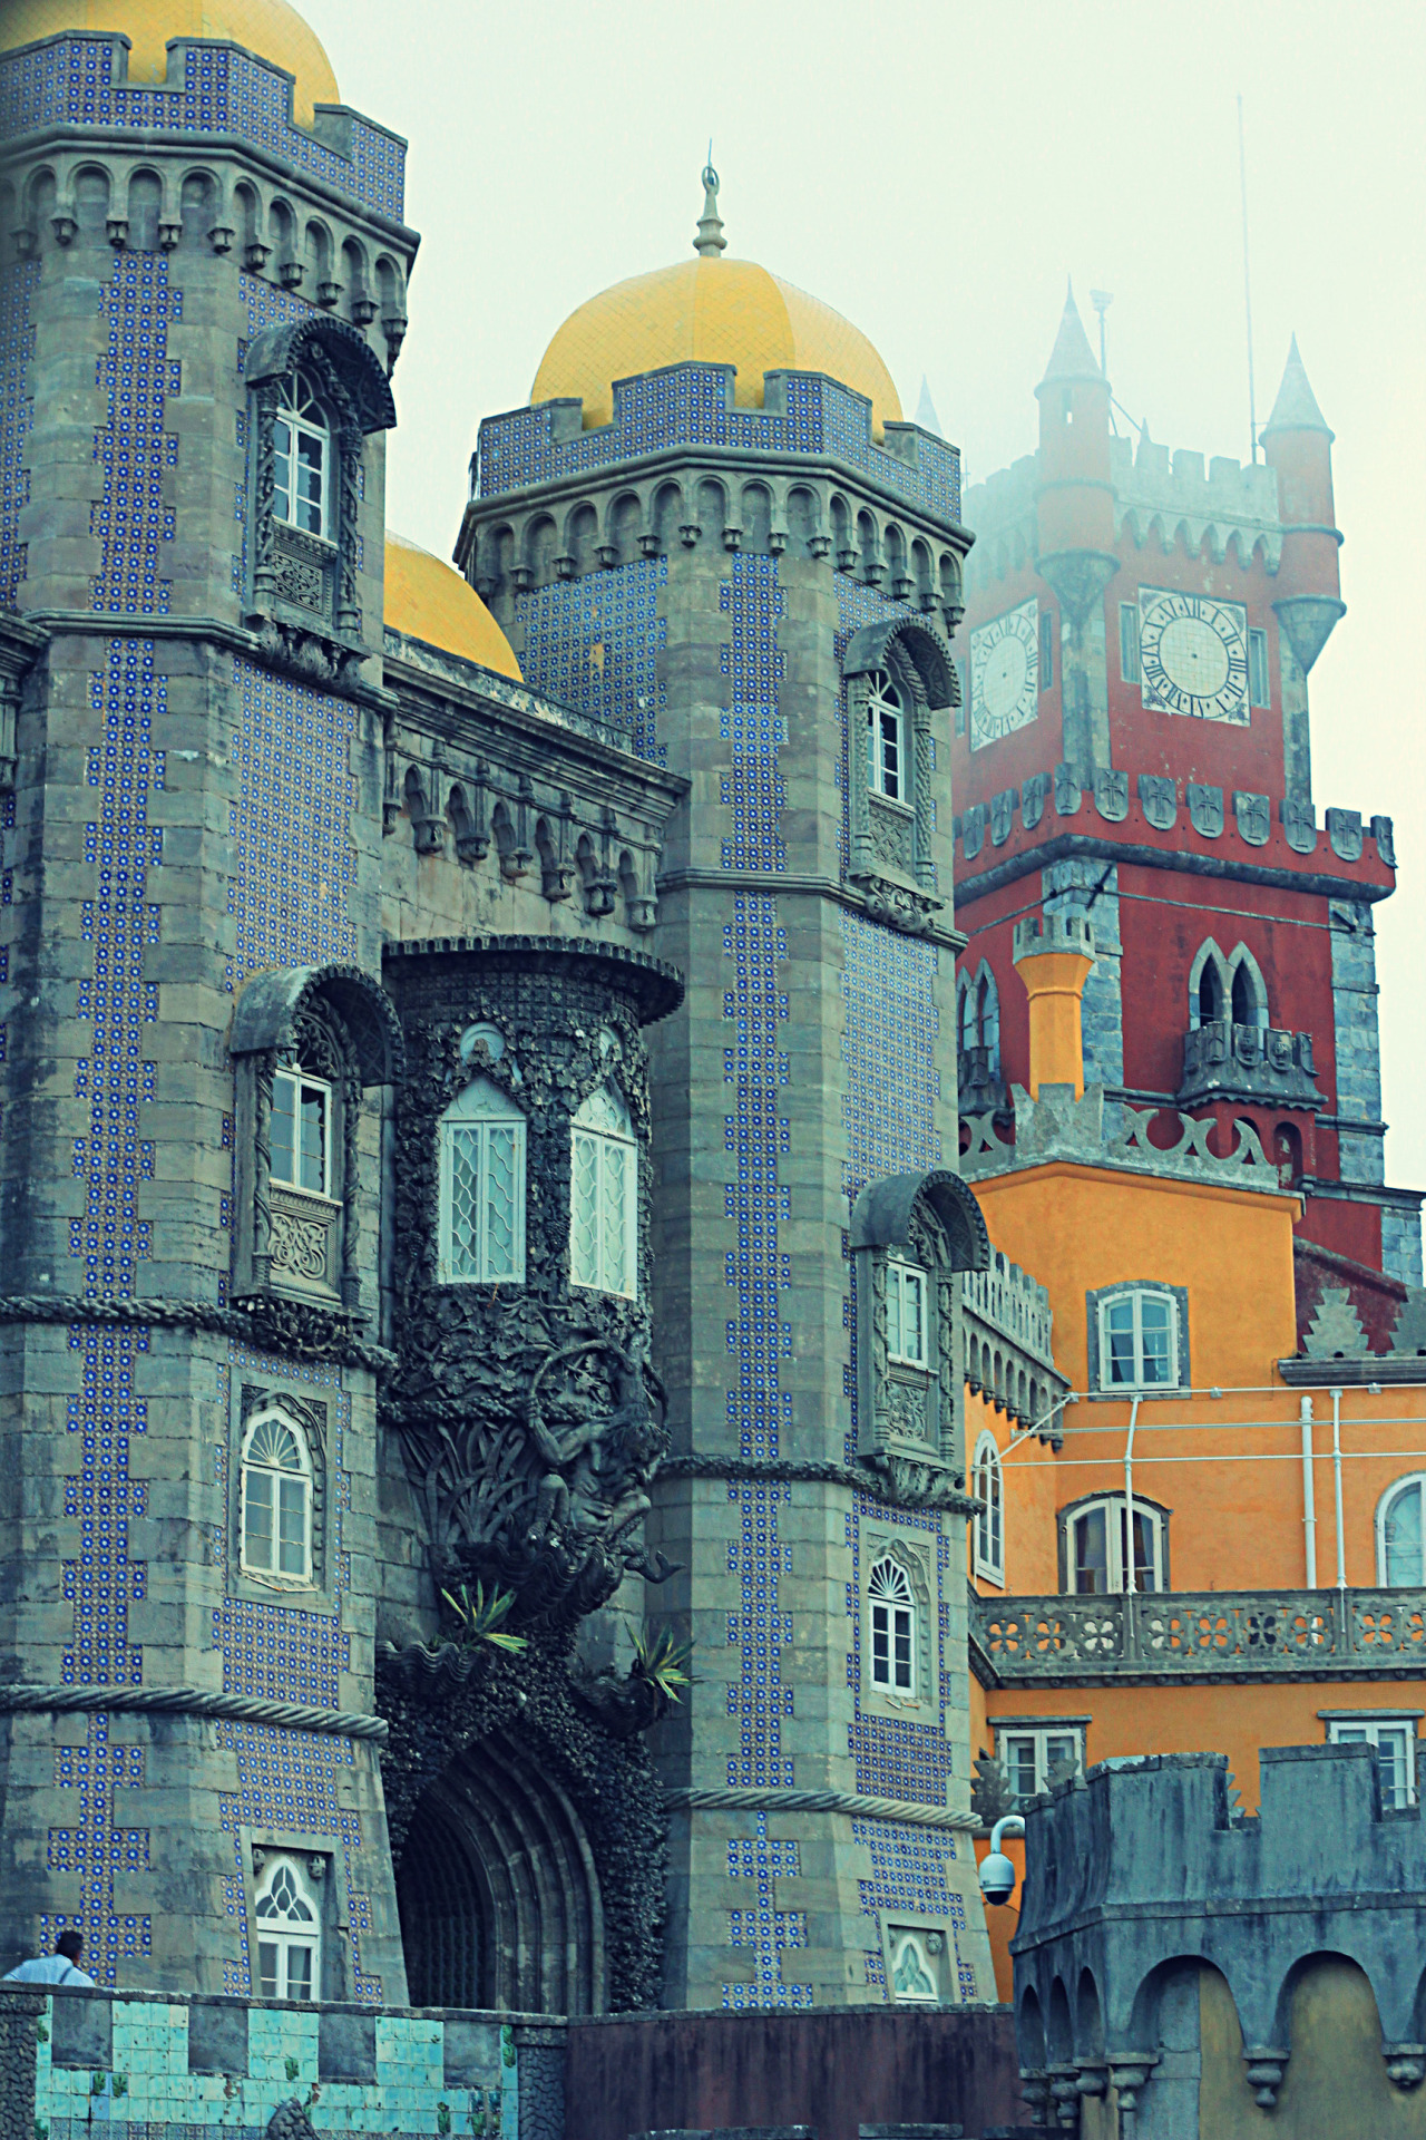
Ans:
[[[1067,274],[1114,291],[1110,377],[1152,437],[1246,458],[1242,92],[1259,422],[1296,330],[1336,430],[1315,798],[1396,820],[1388,1179],[1426,1188],[1422,0],[299,4],[410,141],[389,518],[440,554],[481,415],[584,297],[688,255],[710,135],[729,253],[847,312],[909,415],[926,374],[968,482],[1035,445]]]

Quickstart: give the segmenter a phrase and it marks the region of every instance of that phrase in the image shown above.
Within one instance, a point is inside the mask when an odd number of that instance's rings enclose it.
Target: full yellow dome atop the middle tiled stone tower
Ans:
[[[859,327],[755,261],[699,255],[616,282],[571,312],[530,400],[579,396],[584,428],[614,417],[614,381],[663,364],[735,364],[733,400],[763,407],[763,372],[830,372],[866,394],[872,432],[900,422],[892,374]]]

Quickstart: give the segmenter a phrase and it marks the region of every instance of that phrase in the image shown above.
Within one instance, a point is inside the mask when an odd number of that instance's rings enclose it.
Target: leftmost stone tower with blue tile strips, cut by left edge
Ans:
[[[284,1847],[310,1992],[400,2001],[372,1641],[404,146],[280,0],[229,11],[250,49],[220,6],[167,49],[143,9],[133,43],[73,13],[17,9],[0,54],[0,1911],[81,1926],[100,1982],[257,1992]],[[306,1511],[301,1605],[265,1494]]]

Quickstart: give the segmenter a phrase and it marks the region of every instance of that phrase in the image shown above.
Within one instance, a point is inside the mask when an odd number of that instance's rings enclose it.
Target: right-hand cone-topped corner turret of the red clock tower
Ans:
[[[1278,479],[1283,556],[1272,608],[1306,678],[1343,616],[1332,432],[1293,334],[1283,385],[1261,430],[1264,458]]]

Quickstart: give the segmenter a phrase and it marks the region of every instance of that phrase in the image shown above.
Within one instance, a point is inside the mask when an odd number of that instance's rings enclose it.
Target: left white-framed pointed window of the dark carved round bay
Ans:
[[[526,1119],[490,1079],[440,1117],[440,1284],[522,1284]]]

